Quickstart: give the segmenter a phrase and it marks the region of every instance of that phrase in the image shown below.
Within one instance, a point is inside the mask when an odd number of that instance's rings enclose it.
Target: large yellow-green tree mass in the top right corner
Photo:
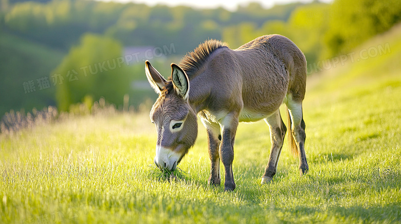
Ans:
[[[330,27],[324,35],[328,48],[325,56],[348,53],[372,36],[401,21],[398,0],[337,0],[330,10]]]

